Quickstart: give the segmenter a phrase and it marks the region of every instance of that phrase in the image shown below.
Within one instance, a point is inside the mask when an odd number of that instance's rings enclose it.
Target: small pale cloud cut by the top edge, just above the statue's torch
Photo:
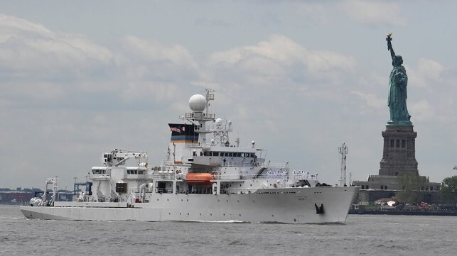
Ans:
[[[392,26],[404,26],[407,23],[397,3],[351,0],[343,1],[339,6],[350,17],[362,23],[384,23]]]

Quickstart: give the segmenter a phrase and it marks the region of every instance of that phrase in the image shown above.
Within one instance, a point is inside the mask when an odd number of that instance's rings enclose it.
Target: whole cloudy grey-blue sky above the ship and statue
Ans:
[[[271,162],[378,174],[392,60],[407,69],[419,174],[457,174],[457,1],[0,1],[0,187],[83,181],[102,152],[160,165],[167,123],[210,112]]]

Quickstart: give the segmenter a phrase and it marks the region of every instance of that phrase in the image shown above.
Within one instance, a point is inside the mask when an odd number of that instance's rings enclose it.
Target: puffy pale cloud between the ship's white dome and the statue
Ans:
[[[303,76],[334,83],[341,72],[353,72],[356,65],[353,57],[324,50],[307,50],[284,35],[271,35],[269,40],[257,45],[214,52],[207,66],[213,67],[215,72],[236,69],[239,74],[246,75],[252,84],[287,84],[291,82],[291,77],[303,82],[307,79]]]

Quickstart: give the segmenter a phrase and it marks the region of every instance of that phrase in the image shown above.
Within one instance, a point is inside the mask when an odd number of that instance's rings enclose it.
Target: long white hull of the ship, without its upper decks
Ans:
[[[359,187],[258,189],[252,194],[153,194],[147,203],[21,206],[26,218],[82,221],[345,223]],[[323,206],[318,213],[316,206]]]

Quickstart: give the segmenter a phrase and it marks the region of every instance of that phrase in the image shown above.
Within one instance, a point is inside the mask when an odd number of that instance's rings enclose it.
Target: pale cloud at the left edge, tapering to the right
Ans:
[[[81,35],[53,32],[39,24],[0,14],[0,67],[18,72],[91,69],[112,62],[110,50]]]

